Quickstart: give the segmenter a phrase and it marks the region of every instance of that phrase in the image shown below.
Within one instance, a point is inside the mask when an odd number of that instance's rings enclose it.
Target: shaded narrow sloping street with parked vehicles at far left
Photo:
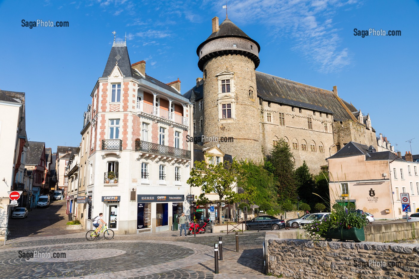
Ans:
[[[65,200],[53,201],[47,208],[32,209],[25,219],[9,220],[8,238],[37,235],[67,235]],[[77,230],[80,231],[80,230]]]

